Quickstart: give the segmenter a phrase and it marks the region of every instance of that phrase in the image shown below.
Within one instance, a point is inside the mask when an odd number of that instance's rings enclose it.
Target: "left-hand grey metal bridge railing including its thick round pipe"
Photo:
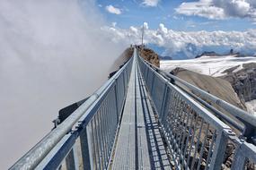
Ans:
[[[106,169],[133,59],[10,169]]]

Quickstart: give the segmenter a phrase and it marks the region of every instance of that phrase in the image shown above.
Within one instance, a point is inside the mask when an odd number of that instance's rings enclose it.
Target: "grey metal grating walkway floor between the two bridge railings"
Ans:
[[[159,126],[135,61],[115,150],[112,169],[171,169]]]

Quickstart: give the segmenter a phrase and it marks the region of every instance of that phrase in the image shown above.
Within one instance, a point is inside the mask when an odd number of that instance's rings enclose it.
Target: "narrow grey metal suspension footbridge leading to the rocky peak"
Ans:
[[[161,71],[134,47],[110,80],[10,169],[253,169],[255,144],[253,115]]]

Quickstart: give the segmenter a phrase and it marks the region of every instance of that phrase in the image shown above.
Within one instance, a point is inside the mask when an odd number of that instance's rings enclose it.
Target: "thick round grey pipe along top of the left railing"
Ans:
[[[47,134],[39,143],[21,157],[10,169],[34,169],[38,166],[43,158],[49,154],[49,151],[53,149],[60,140],[62,140],[67,132],[72,130],[75,123],[80,120],[85,111],[92,106],[93,103],[102,96],[102,94],[104,94],[113,83],[115,83],[119,74],[128,67],[130,62],[132,62],[132,57],[119,69],[118,72],[106,81],[100,89],[97,89],[83,105],[79,106],[75,112],[72,115],[69,115],[63,123],[60,123],[57,126],[57,128],[49,132],[49,134]]]

